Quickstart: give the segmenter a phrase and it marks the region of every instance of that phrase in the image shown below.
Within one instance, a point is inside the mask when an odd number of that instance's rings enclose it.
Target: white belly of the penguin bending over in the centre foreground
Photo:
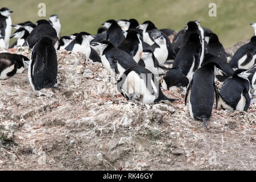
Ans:
[[[139,77],[139,75],[136,72],[131,71],[127,76],[127,80],[129,85],[131,85],[131,87],[133,88],[134,93],[140,94],[142,96],[141,97],[142,102],[144,103],[154,102],[155,96],[150,93],[150,91],[147,89],[145,85],[144,80],[141,77]],[[152,84],[152,80],[151,80],[151,84]],[[153,86],[153,89],[155,90],[156,89],[155,85],[152,85],[152,86]]]

